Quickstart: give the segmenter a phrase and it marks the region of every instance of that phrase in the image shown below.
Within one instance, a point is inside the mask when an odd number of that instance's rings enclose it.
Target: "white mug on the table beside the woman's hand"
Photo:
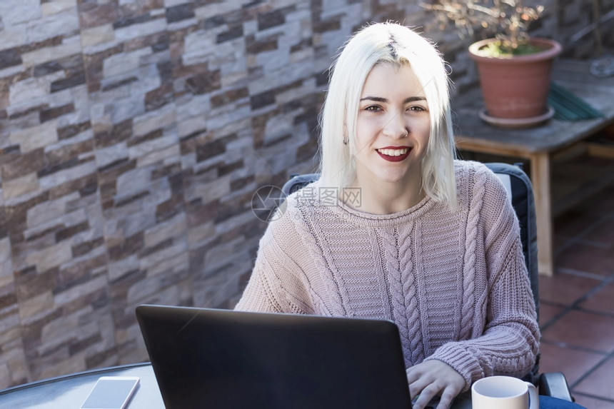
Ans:
[[[475,381],[471,386],[471,407],[539,409],[539,397],[533,383],[511,376],[489,376]]]

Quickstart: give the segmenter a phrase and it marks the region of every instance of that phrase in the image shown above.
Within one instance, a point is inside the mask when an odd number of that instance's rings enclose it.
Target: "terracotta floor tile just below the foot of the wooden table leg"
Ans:
[[[555,273],[553,277],[539,277],[540,301],[571,304],[578,301],[585,293],[598,286],[601,281],[595,278]]]

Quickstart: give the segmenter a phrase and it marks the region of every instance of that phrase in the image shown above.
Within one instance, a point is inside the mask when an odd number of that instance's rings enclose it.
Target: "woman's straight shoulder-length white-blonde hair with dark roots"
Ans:
[[[358,31],[331,66],[321,112],[321,186],[342,188],[356,177],[356,118],[363,85],[376,64],[411,66],[428,104],[431,133],[421,163],[427,196],[456,207],[454,136],[446,63],[430,41],[406,26],[378,23]],[[344,144],[344,141],[349,143]]]

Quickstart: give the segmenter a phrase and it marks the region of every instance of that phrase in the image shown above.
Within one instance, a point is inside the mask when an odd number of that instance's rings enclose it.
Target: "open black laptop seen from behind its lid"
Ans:
[[[389,320],[143,305],[166,408],[411,408]]]

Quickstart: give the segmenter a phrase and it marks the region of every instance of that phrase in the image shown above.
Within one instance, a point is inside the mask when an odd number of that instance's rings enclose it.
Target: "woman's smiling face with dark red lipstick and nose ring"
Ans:
[[[376,64],[358,105],[356,186],[401,183],[419,190],[430,123],[422,86],[410,66]]]

